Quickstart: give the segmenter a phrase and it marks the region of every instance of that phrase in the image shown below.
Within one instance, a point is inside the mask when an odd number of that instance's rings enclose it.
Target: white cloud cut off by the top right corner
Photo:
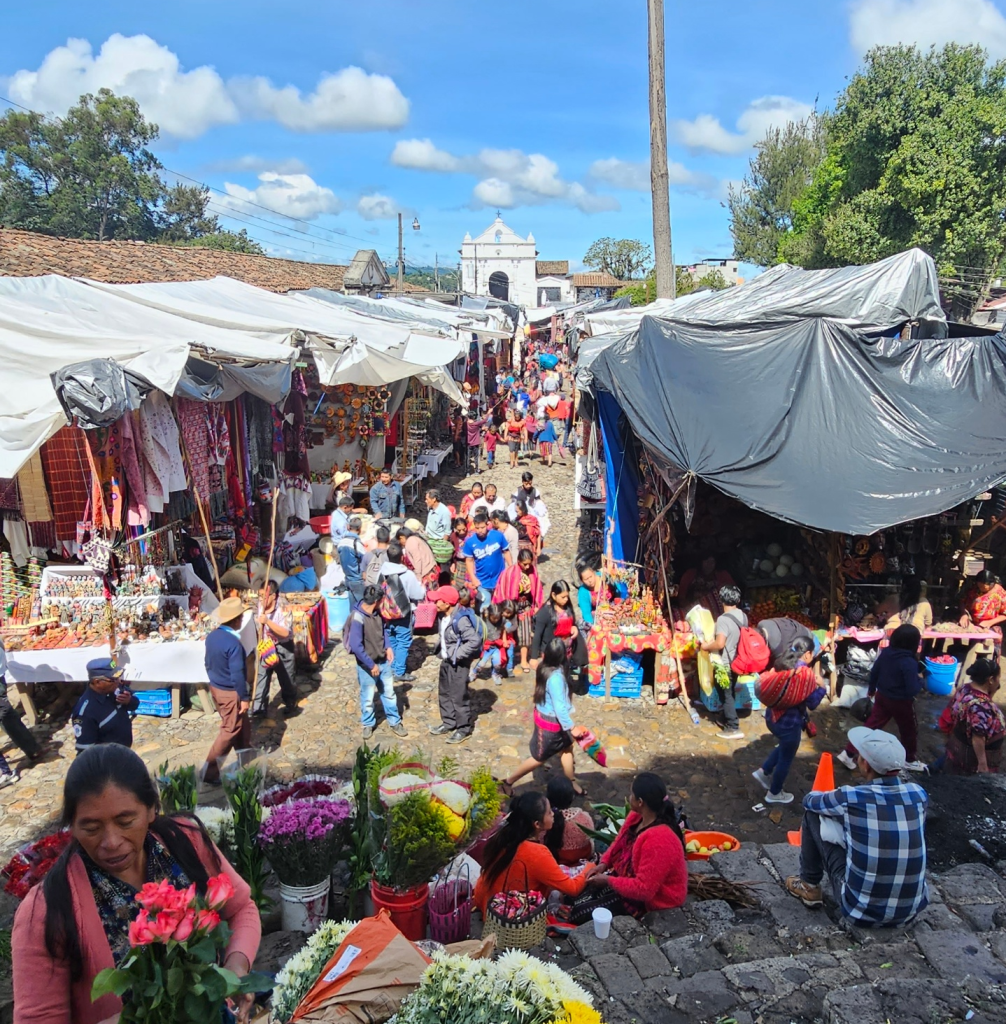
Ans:
[[[977,43],[1006,57],[1006,17],[992,0],[856,0],[849,37],[858,53],[873,46]]]

